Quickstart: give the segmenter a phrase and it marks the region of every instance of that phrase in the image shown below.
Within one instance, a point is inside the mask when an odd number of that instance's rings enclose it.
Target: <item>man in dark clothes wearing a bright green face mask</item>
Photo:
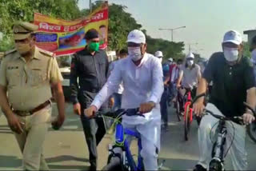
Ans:
[[[97,145],[106,133],[102,118],[87,118],[83,111],[88,108],[94,97],[102,89],[108,74],[106,52],[99,50],[97,30],[88,30],[85,35],[86,48],[74,54],[71,63],[70,86],[74,113],[81,117],[86,142],[90,153],[90,170],[97,169]],[[79,85],[78,85],[79,81]],[[102,106],[102,110],[108,105]]]

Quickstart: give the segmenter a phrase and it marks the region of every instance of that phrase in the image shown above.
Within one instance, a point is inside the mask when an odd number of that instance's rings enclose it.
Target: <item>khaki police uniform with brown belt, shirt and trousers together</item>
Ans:
[[[33,30],[28,24],[22,22],[18,27],[14,26],[15,39],[30,35],[23,32],[21,37],[18,36],[21,26],[24,30]],[[42,155],[42,146],[51,120],[50,84],[62,82],[62,79],[54,55],[37,47],[29,62],[16,50],[10,51],[2,60],[0,85],[6,86],[10,106],[24,123],[23,133],[14,134],[22,150],[26,170],[49,170]],[[38,106],[42,109],[38,109]]]

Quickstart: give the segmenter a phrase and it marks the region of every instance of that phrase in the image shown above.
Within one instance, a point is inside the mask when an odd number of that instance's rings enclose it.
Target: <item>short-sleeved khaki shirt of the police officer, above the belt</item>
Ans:
[[[0,85],[7,88],[8,100],[15,110],[31,110],[49,100],[50,84],[62,80],[56,58],[38,48],[29,62],[13,51],[6,54],[0,66]]]

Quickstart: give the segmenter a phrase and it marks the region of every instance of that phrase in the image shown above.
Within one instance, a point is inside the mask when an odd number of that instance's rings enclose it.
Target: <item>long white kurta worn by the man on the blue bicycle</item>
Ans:
[[[99,109],[103,102],[118,89],[121,82],[124,87],[122,109],[134,109],[144,102],[154,101],[157,104],[156,107],[150,113],[146,113],[145,117],[124,116],[122,121],[124,125],[136,127],[142,137],[154,142],[154,145],[160,149],[161,113],[159,102],[163,92],[161,63],[153,55],[145,54],[139,66],[135,66],[129,56],[121,59],[117,64],[91,105],[95,105]],[[149,125],[156,125],[153,126],[154,128],[152,127],[153,132]]]

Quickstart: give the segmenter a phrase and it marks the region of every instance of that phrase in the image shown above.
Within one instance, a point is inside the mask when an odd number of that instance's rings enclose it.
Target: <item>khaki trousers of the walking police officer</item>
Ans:
[[[18,145],[22,151],[24,170],[49,170],[42,154],[42,146],[48,132],[48,124],[51,120],[51,105],[34,113],[33,115],[20,117],[24,123],[23,133],[14,133]]]

